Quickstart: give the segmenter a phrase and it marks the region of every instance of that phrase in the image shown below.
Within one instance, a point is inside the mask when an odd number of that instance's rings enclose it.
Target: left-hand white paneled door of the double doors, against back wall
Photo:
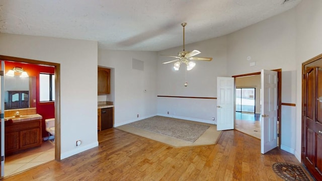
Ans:
[[[217,77],[217,130],[234,128],[234,78]]]

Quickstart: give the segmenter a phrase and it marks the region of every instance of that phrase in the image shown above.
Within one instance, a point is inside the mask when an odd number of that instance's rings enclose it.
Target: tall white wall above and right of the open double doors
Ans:
[[[285,72],[296,72],[295,10],[274,16],[228,35],[228,74],[282,69],[282,103],[296,103],[296,81]],[[250,56],[251,60],[247,57]],[[256,62],[256,66],[250,66]],[[287,87],[287,92],[283,88]],[[295,153],[295,108],[282,106],[281,148]]]

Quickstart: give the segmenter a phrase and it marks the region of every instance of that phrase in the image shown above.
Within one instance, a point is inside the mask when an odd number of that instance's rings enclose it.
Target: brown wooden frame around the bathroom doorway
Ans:
[[[60,161],[60,63],[4,55],[0,55],[0,60],[31,63],[36,65],[50,65],[55,67],[55,160]]]

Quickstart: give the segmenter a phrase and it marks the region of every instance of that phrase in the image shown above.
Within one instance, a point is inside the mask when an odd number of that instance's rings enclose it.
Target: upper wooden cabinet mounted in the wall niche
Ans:
[[[97,76],[98,76],[98,85],[97,85],[98,95],[110,94],[111,69],[98,67]]]

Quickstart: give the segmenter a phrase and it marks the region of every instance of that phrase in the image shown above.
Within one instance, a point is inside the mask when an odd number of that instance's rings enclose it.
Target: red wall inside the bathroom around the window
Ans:
[[[52,66],[42,66],[30,63],[20,63],[20,62],[12,62],[5,61],[5,73],[14,67],[23,68],[29,76],[36,77],[36,109],[37,114],[42,116],[42,137],[47,137],[48,133],[46,132],[45,127],[45,119],[54,118],[55,117],[55,103],[54,102],[46,102],[40,103],[40,94],[39,94],[39,74],[40,73],[55,73],[55,67]]]

